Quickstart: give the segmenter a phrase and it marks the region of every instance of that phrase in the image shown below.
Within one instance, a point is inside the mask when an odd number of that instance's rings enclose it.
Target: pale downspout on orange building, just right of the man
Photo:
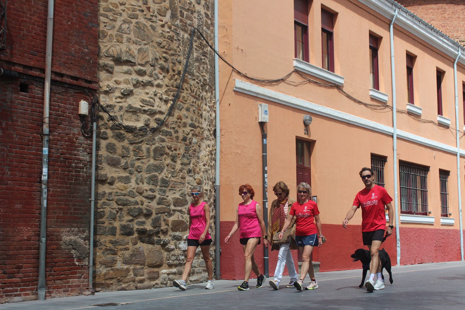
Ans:
[[[392,80],[392,166],[394,169],[394,217],[396,219],[396,246],[397,246],[397,265],[400,266],[400,235],[399,235],[399,193],[397,180],[397,102],[396,102],[396,74],[394,66],[394,20],[397,17],[397,7],[389,25],[389,40],[391,43],[391,80]]]

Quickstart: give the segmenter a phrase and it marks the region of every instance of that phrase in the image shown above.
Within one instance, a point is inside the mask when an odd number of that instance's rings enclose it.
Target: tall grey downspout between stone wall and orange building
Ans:
[[[218,52],[218,0],[214,1],[214,23],[215,23],[215,51]],[[218,55],[215,53],[215,124],[216,124],[216,147],[215,147],[215,279],[221,276],[220,256],[221,240],[219,236],[219,64]]]

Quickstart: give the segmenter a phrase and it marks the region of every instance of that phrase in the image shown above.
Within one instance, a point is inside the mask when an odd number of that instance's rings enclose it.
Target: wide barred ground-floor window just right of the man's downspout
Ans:
[[[428,215],[429,168],[399,162],[400,213]]]

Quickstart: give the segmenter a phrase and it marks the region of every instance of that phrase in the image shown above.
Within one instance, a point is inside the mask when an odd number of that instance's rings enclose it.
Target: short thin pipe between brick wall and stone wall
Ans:
[[[92,109],[93,110],[93,109]],[[97,136],[97,122],[94,113],[92,113],[92,175],[90,189],[90,232],[89,232],[89,291],[94,293],[93,289],[93,214],[95,206],[95,138]]]

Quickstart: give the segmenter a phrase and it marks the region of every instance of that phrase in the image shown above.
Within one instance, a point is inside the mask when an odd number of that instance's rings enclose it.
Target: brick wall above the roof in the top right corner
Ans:
[[[465,45],[464,0],[398,0],[397,2]]]

